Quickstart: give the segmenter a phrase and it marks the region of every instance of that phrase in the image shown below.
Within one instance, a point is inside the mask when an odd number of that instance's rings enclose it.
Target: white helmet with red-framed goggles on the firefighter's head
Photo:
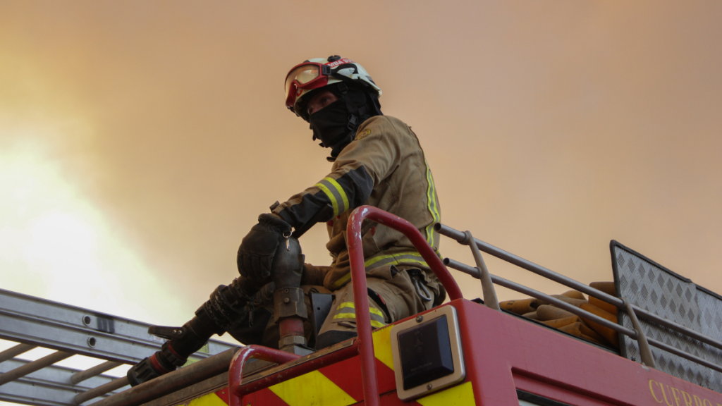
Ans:
[[[286,75],[286,107],[298,113],[297,105],[303,95],[319,87],[333,85],[339,82],[359,81],[360,85],[369,88],[381,95],[381,89],[376,86],[371,76],[351,59],[334,55],[328,58],[314,58],[298,64]]]

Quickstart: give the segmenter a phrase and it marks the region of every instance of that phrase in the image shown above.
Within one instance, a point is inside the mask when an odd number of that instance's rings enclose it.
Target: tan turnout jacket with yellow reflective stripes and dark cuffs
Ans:
[[[326,204],[334,208],[332,218],[321,219],[328,221],[330,241],[326,247],[334,260],[328,268],[317,268],[325,274],[323,286],[329,290],[351,280],[345,230],[351,211],[363,204],[408,220],[439,254],[439,235],[433,225],[440,221],[441,209],[431,170],[416,134],[397,118],[375,116],[363,122],[355,140],[336,158],[331,173],[274,207],[273,212],[298,228]],[[362,242],[367,277],[390,279],[391,265],[418,268],[437,299],[443,295],[421,254],[403,234],[367,223]]]

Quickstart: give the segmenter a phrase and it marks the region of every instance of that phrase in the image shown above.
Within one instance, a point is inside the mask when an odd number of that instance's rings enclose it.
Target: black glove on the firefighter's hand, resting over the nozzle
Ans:
[[[291,225],[279,217],[265,213],[258,224],[243,237],[238,248],[238,272],[259,282],[271,280],[271,263],[279,243],[291,235]]]

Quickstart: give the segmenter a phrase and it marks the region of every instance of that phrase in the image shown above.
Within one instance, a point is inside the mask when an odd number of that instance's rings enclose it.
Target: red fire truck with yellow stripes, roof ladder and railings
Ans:
[[[363,206],[347,228],[356,309],[369,308],[364,220],[404,233],[450,301],[378,329],[359,312],[357,337],[305,355],[212,340],[183,368],[131,388],[103,372],[160,347],[162,340],[142,331],[147,325],[2,291],[0,338],[19,344],[0,353],[0,399],[56,406],[722,406],[722,297],[621,243],[610,243],[610,295],[439,223],[435,230],[469,246],[475,264],[441,259],[406,220]],[[609,303],[618,322],[491,275],[482,252]],[[479,279],[483,298],[464,298],[448,268]],[[495,285],[612,329],[619,349],[503,311]],[[317,304],[314,316],[323,319]],[[32,362],[16,358],[37,345],[58,351]],[[73,354],[106,362],[87,371],[53,366]]]

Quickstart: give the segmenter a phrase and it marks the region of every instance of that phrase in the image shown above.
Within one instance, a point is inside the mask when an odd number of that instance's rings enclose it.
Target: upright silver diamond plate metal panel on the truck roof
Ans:
[[[630,303],[653,314],[722,341],[720,295],[695,285],[692,280],[677,275],[617,241],[612,240],[609,249],[612,252],[614,285],[619,297],[627,298]],[[620,311],[618,316],[621,324],[633,329],[626,313]],[[722,365],[721,350],[643,319],[640,319],[640,324],[647,337]],[[619,345],[623,356],[631,360],[640,359],[636,340],[620,334]],[[652,347],[652,354],[660,371],[722,393],[722,373],[656,347]]]

